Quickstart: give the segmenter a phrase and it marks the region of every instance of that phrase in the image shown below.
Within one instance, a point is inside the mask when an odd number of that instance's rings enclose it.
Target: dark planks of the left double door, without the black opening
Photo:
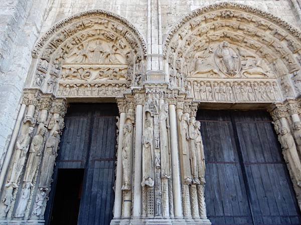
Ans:
[[[79,225],[108,225],[113,217],[117,115],[116,104],[106,103],[72,104],[65,116],[56,171],[84,168]]]

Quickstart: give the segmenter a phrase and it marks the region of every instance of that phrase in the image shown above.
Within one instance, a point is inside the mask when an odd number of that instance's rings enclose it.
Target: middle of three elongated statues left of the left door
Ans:
[[[29,156],[26,165],[25,178],[24,178],[25,182],[32,183],[34,175],[36,174],[40,162],[40,158],[42,155],[42,150],[44,147],[44,140],[45,140],[44,135],[46,131],[47,129],[45,127],[42,127],[38,131],[38,134],[33,137],[32,143],[30,145]]]

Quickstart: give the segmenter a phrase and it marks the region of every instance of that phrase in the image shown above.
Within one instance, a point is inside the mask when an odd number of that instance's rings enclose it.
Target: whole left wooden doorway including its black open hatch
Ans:
[[[108,225],[113,217],[116,104],[72,104],[65,116],[48,224]]]

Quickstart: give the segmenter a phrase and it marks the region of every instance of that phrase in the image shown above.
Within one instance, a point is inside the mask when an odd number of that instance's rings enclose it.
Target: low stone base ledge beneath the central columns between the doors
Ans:
[[[112,219],[110,225],[129,224],[129,225],[156,225],[156,224],[170,224],[170,225],[211,225],[209,219],[185,219],[185,218],[131,218],[131,219]]]

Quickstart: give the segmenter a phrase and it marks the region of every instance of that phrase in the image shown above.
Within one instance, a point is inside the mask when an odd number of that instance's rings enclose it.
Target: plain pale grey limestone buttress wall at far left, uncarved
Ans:
[[[20,108],[20,98],[52,0],[0,1],[0,169]]]

